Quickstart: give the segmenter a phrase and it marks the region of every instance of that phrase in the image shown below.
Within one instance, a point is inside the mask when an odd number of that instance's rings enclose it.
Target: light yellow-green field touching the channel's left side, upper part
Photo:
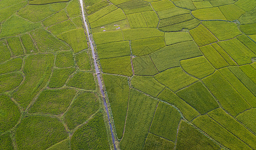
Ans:
[[[79,52],[88,48],[86,36],[83,28],[73,29],[64,32],[57,36],[58,38],[66,41],[73,49],[73,51]]]

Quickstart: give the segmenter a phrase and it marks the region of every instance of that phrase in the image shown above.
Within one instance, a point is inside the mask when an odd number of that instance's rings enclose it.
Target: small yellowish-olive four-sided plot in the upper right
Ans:
[[[199,24],[196,28],[189,30],[189,32],[198,46],[218,41],[218,39],[202,24]]]

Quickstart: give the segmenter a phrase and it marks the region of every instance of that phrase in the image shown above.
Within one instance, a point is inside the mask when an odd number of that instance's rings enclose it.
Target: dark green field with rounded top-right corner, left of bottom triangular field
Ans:
[[[150,127],[150,132],[175,141],[179,121],[180,114],[174,107],[164,102],[159,102]]]

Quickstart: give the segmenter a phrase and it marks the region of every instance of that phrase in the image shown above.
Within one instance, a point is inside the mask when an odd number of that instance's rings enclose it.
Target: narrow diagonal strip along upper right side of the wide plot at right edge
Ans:
[[[235,90],[246,100],[252,107],[256,107],[256,97],[250,90],[228,69],[219,69],[219,72],[235,88]]]

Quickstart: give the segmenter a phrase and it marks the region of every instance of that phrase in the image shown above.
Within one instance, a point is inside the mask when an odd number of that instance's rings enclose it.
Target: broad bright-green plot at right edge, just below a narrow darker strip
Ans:
[[[256,57],[249,48],[242,44],[238,39],[230,39],[217,42],[238,64],[247,64],[251,62],[251,58]]]

